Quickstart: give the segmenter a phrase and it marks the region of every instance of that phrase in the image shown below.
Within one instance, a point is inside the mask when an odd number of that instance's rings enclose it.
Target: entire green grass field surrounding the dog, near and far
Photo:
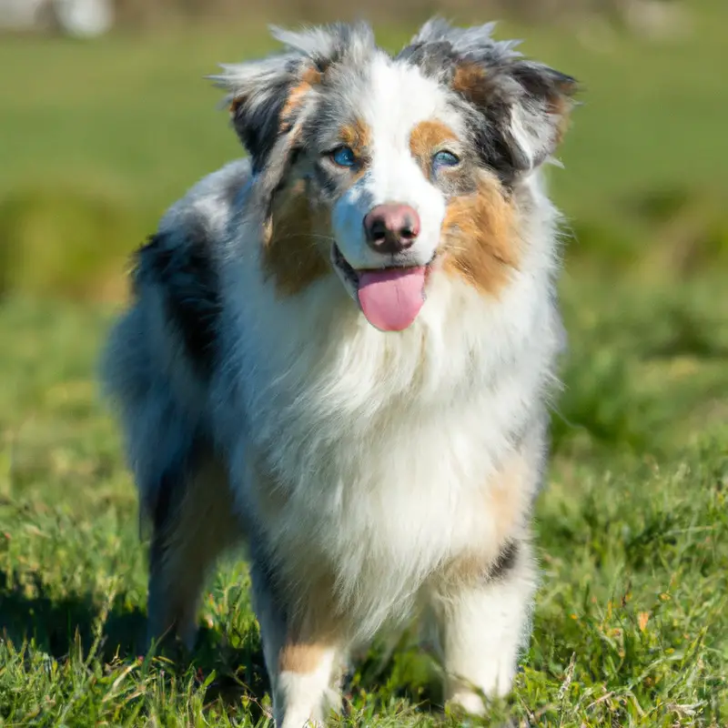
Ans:
[[[695,5],[647,46],[501,29],[588,103],[552,174],[576,237],[535,630],[484,725],[728,725],[728,7]],[[141,656],[145,546],[96,385],[126,253],[239,153],[201,76],[267,47],[0,41],[0,725],[272,724],[244,562],[210,581],[191,657]],[[409,634],[379,655],[341,724],[461,724]]]

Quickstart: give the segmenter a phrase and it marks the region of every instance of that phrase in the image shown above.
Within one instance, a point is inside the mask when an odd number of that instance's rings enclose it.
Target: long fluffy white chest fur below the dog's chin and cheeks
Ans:
[[[546,280],[517,278],[494,302],[439,273],[415,324],[386,335],[338,280],[277,298],[250,262],[227,322],[240,332],[225,368],[236,386],[217,399],[233,413],[220,418],[233,472],[251,472],[252,446],[273,480],[241,477],[238,497],[260,510],[270,494],[256,489],[280,489],[279,507],[257,514],[279,557],[301,573],[326,563],[373,631],[438,566],[497,548],[490,478],[541,399],[555,345]]]

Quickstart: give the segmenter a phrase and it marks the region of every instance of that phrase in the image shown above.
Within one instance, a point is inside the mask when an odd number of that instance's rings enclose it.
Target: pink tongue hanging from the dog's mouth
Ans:
[[[425,268],[387,268],[359,273],[359,304],[372,326],[401,331],[425,302]]]

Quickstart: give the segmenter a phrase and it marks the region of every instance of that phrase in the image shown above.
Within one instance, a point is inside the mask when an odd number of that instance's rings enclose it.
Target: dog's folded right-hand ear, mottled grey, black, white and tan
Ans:
[[[515,50],[519,41],[495,41],[493,27],[456,28],[435,18],[400,56],[423,70],[437,69],[440,81],[472,112],[482,156],[512,177],[555,152],[579,89],[571,76],[521,56]]]

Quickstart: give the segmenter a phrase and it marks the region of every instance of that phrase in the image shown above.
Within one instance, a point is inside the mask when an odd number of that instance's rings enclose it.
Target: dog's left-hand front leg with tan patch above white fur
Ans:
[[[334,683],[344,657],[341,632],[327,609],[328,595],[311,586],[291,603],[272,586],[268,569],[258,564],[252,574],[276,726],[321,726],[340,708]]]

